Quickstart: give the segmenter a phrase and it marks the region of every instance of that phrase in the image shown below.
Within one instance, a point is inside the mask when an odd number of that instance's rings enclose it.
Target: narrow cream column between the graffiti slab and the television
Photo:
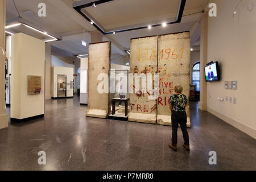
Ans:
[[[201,18],[200,27],[200,110],[207,110],[207,82],[205,82],[204,67],[207,64],[207,44],[208,44],[208,13]]]

